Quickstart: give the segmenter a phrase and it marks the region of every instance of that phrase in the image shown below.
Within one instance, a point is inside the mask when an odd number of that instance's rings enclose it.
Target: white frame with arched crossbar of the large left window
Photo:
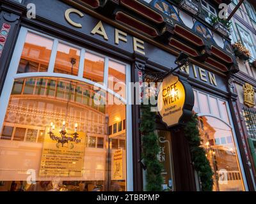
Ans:
[[[43,36],[45,38],[53,39],[53,45],[52,45],[52,52],[51,57],[49,61],[49,67],[47,72],[33,72],[33,73],[17,73],[17,69],[19,67],[20,57],[22,55],[22,50],[24,47],[24,43],[26,41],[26,35],[27,33],[34,33],[38,34],[39,36]],[[81,56],[80,56],[80,62],[79,62],[79,71],[78,75],[66,75],[62,73],[54,73],[54,64],[55,64],[55,58],[57,54],[57,48],[58,48],[58,42],[64,43],[65,45],[70,45],[72,47],[76,47],[81,49]],[[99,54],[93,50],[88,50],[92,54],[101,55],[104,56],[106,59],[105,66],[104,66],[104,83],[106,84],[99,84],[97,82],[93,82],[91,80],[88,80],[86,78],[83,78],[83,71],[84,71],[84,57],[86,53],[86,48],[79,47],[75,44],[72,44],[68,41],[60,40],[54,36],[49,36],[48,34],[40,33],[38,31],[34,31],[32,29],[28,29],[26,27],[20,27],[19,36],[17,38],[17,42],[15,45],[15,49],[13,51],[13,57],[10,62],[10,66],[8,68],[8,73],[6,75],[6,79],[4,81],[3,85],[3,91],[0,97],[0,103],[1,108],[3,111],[0,112],[0,129],[3,129],[4,126],[4,117],[6,115],[6,111],[8,109],[8,103],[10,100],[10,96],[12,94],[12,88],[15,80],[19,80],[22,78],[33,78],[33,77],[54,77],[54,78],[65,78],[68,80],[75,80],[78,82],[84,82],[86,84],[95,85],[96,87],[101,88],[102,90],[108,91],[110,94],[115,96],[116,98],[120,99],[125,105],[126,105],[126,118],[125,118],[125,126],[126,129],[126,191],[132,191],[133,190],[133,156],[132,156],[132,107],[131,103],[127,103],[127,101],[130,101],[131,98],[129,97],[131,95],[131,91],[129,90],[129,86],[126,85],[126,97],[127,99],[122,98],[118,94],[116,94],[114,91],[111,91],[108,89],[108,61],[111,59],[111,61],[118,62],[120,64],[125,65],[125,74],[126,74],[126,82],[127,84],[131,82],[131,66],[130,64],[126,64],[122,61],[118,61],[116,59],[113,59],[111,57],[108,57],[108,55]],[[38,131],[39,132],[39,131]]]

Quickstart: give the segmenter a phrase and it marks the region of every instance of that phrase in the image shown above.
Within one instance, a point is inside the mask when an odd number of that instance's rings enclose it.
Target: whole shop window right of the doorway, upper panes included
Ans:
[[[199,103],[198,128],[207,159],[214,172],[214,191],[244,191],[236,135],[230,120],[228,103],[201,91],[194,90]]]

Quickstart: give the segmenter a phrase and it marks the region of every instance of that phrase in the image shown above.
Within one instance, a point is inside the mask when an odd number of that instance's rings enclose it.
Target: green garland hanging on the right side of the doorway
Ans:
[[[213,186],[213,172],[211,165],[205,156],[206,152],[201,145],[201,138],[198,130],[198,117],[194,115],[184,128],[185,136],[189,142],[192,161],[195,170],[200,177],[202,191],[212,191]]]

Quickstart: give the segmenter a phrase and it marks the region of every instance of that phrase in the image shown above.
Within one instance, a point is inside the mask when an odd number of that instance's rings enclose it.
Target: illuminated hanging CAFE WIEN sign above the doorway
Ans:
[[[187,77],[168,75],[163,80],[157,106],[162,121],[168,127],[182,124],[192,115],[195,97]]]

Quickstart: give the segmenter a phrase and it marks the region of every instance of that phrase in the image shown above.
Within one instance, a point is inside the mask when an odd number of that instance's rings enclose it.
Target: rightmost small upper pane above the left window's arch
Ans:
[[[108,88],[125,98],[125,65],[109,61]]]

